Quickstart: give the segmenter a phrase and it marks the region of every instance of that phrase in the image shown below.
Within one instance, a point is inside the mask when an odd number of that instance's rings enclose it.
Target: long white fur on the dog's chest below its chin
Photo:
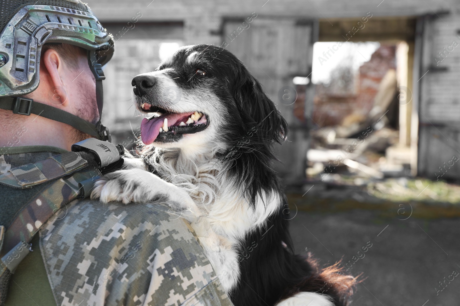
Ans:
[[[218,161],[204,156],[201,160],[197,157],[184,160],[177,153],[163,153],[151,160],[154,161],[152,166],[162,174],[165,186],[160,184],[159,177],[144,171],[136,175],[126,173],[125,176],[129,175],[130,181],[140,179],[142,185],[151,186],[151,192],[146,192],[145,188],[141,191],[145,199],[165,190],[170,199],[178,200],[177,195],[184,196],[184,192],[190,195],[187,196],[189,200],[180,201],[182,217],[191,222],[220,282],[229,291],[236,286],[240,276],[237,253],[240,244],[248,232],[265,225],[267,218],[281,209],[281,197],[275,191],[264,193],[256,199],[254,206],[250,206],[244,197],[244,188],[219,175],[222,167]],[[134,163],[131,165],[138,167]],[[190,211],[198,219],[184,213]]]

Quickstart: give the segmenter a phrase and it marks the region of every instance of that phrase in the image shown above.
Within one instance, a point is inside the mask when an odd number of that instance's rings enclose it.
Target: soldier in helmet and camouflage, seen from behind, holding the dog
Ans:
[[[231,305],[167,203],[88,198],[123,162],[100,118],[113,40],[89,7],[0,0],[0,31],[0,305]]]

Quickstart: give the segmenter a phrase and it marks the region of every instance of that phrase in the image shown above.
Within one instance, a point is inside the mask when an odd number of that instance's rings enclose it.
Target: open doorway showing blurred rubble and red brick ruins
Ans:
[[[415,24],[412,17],[371,13],[319,22],[307,177],[359,181],[416,171],[410,139]]]

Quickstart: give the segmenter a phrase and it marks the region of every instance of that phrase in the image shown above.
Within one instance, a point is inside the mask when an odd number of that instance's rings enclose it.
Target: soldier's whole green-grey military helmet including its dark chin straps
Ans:
[[[96,78],[99,114],[102,114],[102,66],[113,55],[113,37],[80,0],[0,0],[0,108],[31,113],[73,127],[99,139],[109,132],[60,109],[20,96],[34,91],[40,82],[42,46],[64,43],[88,50],[88,63]]]

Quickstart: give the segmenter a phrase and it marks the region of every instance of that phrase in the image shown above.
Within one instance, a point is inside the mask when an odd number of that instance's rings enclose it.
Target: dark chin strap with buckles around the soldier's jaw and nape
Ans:
[[[12,111],[14,114],[24,116],[35,114],[40,117],[62,122],[83,133],[94,136],[99,140],[111,142],[109,129],[104,127],[101,123],[102,107],[104,104],[102,81],[105,79],[105,76],[102,65],[98,64],[96,51],[88,50],[88,64],[94,74],[94,78],[96,78],[96,101],[99,110],[99,121],[96,124],[92,124],[67,111],[22,97],[0,97],[0,109]]]

